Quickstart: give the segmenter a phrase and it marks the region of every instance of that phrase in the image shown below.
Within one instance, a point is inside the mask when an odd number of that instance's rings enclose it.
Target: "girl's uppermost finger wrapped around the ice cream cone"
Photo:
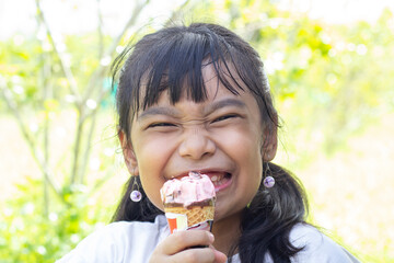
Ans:
[[[210,245],[213,243],[213,235],[205,230],[185,230],[170,235],[158,245],[163,254],[175,254],[195,245]]]

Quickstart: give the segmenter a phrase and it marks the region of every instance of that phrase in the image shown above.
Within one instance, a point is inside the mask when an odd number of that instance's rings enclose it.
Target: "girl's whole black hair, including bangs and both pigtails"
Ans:
[[[154,104],[164,90],[169,91],[172,103],[183,95],[194,102],[206,100],[201,69],[207,65],[213,66],[218,81],[230,92],[239,94],[247,89],[256,99],[262,123],[269,132],[264,148],[279,124],[263,62],[255,49],[236,34],[206,23],[171,26],[148,34],[115,60],[114,80],[121,68],[116,94],[118,125],[127,142],[131,144],[130,125],[136,113]],[[306,198],[301,184],[289,172],[274,163],[263,165],[265,171],[269,165],[276,184],[266,190],[260,183],[243,211],[242,236],[229,254],[237,249],[242,262],[260,262],[269,252],[276,263],[290,262],[302,250],[291,244],[289,232],[296,224],[304,221]],[[147,197],[140,203],[130,201],[135,180],[140,183],[138,176],[130,178],[114,221],[153,221],[163,214]],[[142,187],[140,191],[144,195]]]

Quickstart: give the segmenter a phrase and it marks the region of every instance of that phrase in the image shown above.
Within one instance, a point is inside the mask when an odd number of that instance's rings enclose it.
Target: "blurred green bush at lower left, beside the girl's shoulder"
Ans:
[[[43,182],[27,179],[18,185],[20,194],[2,204],[0,261],[54,262],[95,228],[108,222],[105,206],[97,206],[84,185],[72,185],[61,196],[50,194],[45,210]]]

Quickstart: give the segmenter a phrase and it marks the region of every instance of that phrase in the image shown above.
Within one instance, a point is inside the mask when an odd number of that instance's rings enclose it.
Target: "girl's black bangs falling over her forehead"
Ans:
[[[234,70],[230,70],[230,65],[234,68],[230,49],[209,31],[174,34],[170,41],[157,43],[142,59],[149,60],[144,62],[149,68],[135,87],[135,113],[157,103],[163,91],[169,92],[173,104],[183,95],[194,102],[206,100],[202,68],[207,66],[212,66],[216,71],[218,85],[221,82],[230,92],[239,94],[237,90],[243,88],[240,78],[233,76]]]

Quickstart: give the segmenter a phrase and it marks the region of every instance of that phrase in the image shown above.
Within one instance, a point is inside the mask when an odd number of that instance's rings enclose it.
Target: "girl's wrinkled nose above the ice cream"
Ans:
[[[184,133],[179,145],[179,155],[194,160],[213,155],[216,144],[209,138],[204,128],[193,128]]]

